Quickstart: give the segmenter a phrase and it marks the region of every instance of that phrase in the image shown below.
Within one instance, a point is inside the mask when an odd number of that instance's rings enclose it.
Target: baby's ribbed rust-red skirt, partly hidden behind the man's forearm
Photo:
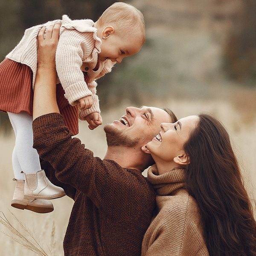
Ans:
[[[57,84],[56,98],[64,122],[73,135],[78,134],[78,110],[64,97],[61,84]],[[25,64],[8,58],[0,63],[0,111],[33,113],[32,70]]]

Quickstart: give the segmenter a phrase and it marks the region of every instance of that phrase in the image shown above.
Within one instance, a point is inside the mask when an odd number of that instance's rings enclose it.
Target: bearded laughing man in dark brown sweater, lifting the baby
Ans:
[[[65,256],[139,256],[154,209],[154,191],[141,175],[153,163],[145,145],[158,134],[161,122],[175,122],[176,117],[160,108],[126,108],[119,120],[104,128],[104,160],[93,157],[72,138],[56,103],[58,28],[47,28],[45,40],[44,31],[38,35],[33,132],[47,177],[74,200]]]

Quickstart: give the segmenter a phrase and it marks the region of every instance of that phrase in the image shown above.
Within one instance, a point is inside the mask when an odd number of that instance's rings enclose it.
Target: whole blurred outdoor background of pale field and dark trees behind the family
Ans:
[[[145,17],[146,43],[98,80],[103,124],[125,107],[171,108],[178,118],[211,113],[227,128],[250,198],[256,197],[256,1],[131,0]],[[110,0],[0,0],[0,59],[20,41],[26,28],[48,20],[96,21]],[[95,131],[79,123],[77,135],[96,156],[106,151],[103,125]],[[63,255],[62,241],[73,202],[53,200],[55,210],[40,215],[10,206],[14,132],[0,113],[0,211],[14,226],[10,209],[52,255]],[[143,173],[146,175],[146,172]],[[255,204],[254,204],[255,205]],[[0,230],[7,232],[0,226]],[[0,233],[1,255],[35,255]],[[50,254],[49,254],[50,255]]]

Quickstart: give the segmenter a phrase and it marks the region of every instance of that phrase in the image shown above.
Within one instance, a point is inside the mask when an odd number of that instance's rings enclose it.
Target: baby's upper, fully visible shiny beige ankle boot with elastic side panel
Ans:
[[[45,176],[44,170],[25,174],[24,199],[54,199],[65,194],[64,189],[53,185]]]

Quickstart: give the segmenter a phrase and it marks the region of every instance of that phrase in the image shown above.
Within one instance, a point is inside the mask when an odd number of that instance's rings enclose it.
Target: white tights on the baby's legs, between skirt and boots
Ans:
[[[14,177],[24,180],[24,175],[41,170],[39,156],[33,145],[32,116],[26,112],[7,112],[15,133],[15,147],[12,152],[12,167]]]

